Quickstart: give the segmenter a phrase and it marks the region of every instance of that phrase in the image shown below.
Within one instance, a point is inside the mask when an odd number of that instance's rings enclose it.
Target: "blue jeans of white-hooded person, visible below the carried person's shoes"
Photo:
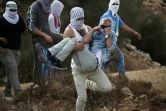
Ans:
[[[46,80],[48,70],[50,69],[50,77],[55,77],[56,69],[50,68],[48,64],[42,64],[42,77]]]

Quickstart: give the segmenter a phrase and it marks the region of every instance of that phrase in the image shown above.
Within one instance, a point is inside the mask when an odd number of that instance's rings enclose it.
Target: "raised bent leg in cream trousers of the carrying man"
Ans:
[[[88,76],[86,88],[93,91],[109,92],[112,90],[112,85],[106,74],[100,68],[97,68]]]

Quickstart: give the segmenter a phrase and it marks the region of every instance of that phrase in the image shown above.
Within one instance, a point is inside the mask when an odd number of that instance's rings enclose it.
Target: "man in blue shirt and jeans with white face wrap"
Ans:
[[[111,17],[112,18],[112,31],[115,33],[116,36],[112,36],[113,44],[115,44],[115,49],[112,51],[113,56],[116,55],[116,62],[117,62],[117,70],[119,72],[120,77],[130,81],[125,75],[125,63],[124,63],[124,55],[121,52],[121,50],[116,45],[117,43],[117,37],[119,36],[119,29],[122,28],[123,30],[135,35],[138,39],[141,39],[142,36],[136,32],[135,30],[131,29],[129,26],[127,26],[120,16],[117,14],[120,6],[120,0],[110,0],[108,11],[105,12],[101,18],[100,21],[105,17]]]

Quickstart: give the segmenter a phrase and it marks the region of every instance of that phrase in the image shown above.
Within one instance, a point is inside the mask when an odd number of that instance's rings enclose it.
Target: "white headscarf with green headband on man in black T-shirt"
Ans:
[[[3,17],[11,24],[16,24],[19,21],[19,16],[17,11],[11,12],[10,9],[17,10],[17,4],[13,1],[9,1],[6,3],[6,11],[3,14]]]

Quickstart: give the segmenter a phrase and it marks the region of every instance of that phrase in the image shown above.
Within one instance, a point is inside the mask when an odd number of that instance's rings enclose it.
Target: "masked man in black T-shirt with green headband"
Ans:
[[[18,66],[20,62],[21,34],[28,34],[28,30],[21,16],[17,14],[17,4],[13,1],[6,3],[6,11],[0,18],[0,37],[3,43],[0,46],[0,60],[7,68],[7,81],[4,96],[12,97],[12,87],[15,96],[22,92],[19,78]]]

